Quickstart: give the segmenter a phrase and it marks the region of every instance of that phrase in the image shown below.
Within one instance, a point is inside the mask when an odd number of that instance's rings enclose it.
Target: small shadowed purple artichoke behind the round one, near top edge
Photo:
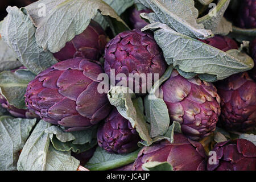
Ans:
[[[150,9],[145,9],[145,10],[138,11],[135,7],[133,7],[130,10],[130,13],[129,13],[129,19],[130,19],[132,28],[141,29],[144,26],[146,26],[148,23],[145,20],[141,19],[141,16],[139,14],[141,14],[141,13],[152,13],[152,12],[153,11],[150,10]]]

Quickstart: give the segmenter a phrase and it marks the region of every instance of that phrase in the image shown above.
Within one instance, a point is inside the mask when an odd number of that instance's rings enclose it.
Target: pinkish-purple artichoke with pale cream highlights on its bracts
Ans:
[[[213,84],[199,78],[190,80],[174,70],[160,87],[171,121],[181,125],[183,133],[194,140],[207,137],[216,129],[220,115],[220,97]]]

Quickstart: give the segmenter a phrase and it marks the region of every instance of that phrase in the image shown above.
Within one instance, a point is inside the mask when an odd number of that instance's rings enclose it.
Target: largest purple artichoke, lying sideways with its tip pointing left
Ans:
[[[97,90],[100,73],[101,65],[88,59],[61,61],[28,84],[26,105],[44,121],[68,131],[95,125],[111,110],[106,94]]]

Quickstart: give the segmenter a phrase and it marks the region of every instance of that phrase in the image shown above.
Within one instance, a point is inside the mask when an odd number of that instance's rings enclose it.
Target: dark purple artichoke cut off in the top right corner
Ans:
[[[238,26],[241,28],[256,28],[256,1],[243,0],[238,14]]]

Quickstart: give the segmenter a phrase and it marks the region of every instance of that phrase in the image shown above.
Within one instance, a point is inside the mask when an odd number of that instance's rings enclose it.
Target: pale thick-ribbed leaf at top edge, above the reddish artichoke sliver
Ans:
[[[210,12],[197,19],[197,23],[203,23],[206,29],[213,34],[228,35],[232,31],[232,23],[224,18],[224,13],[228,8],[230,0],[220,0]],[[215,13],[215,15],[213,15]]]

